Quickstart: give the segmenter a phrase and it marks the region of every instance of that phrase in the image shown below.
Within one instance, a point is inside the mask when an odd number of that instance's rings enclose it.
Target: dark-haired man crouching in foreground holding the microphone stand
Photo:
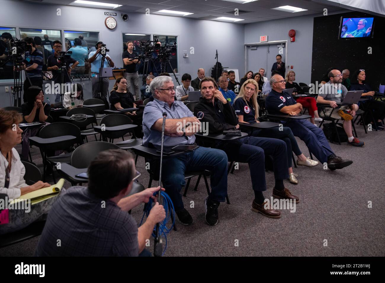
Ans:
[[[100,152],[91,162],[88,175],[87,188],[71,187],[54,203],[35,256],[151,254],[144,247],[156,223],[166,217],[163,206],[156,203],[139,228],[127,212],[149,198],[155,201],[153,194],[160,188],[127,196],[140,174],[132,154],[122,149]]]

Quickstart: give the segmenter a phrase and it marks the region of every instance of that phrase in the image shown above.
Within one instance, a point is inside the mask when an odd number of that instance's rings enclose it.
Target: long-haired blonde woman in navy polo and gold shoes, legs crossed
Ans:
[[[249,79],[244,82],[241,87],[241,90],[238,96],[233,102],[233,108],[235,113],[238,115],[239,122],[242,123],[259,123],[258,121],[258,103],[257,103],[257,94],[258,93],[258,83]],[[243,130],[244,131],[244,130]],[[246,130],[247,132],[247,130]],[[305,157],[298,147],[297,141],[291,132],[289,127],[274,127],[268,129],[253,129],[249,130],[249,135],[254,137],[271,137],[275,139],[281,139],[286,143],[287,154],[288,154],[288,166],[289,166],[289,180],[292,184],[298,184],[297,174],[293,173],[291,152],[294,151],[295,155],[298,157],[297,164],[304,165],[307,167],[313,167],[318,165],[318,161],[310,159],[310,157]]]

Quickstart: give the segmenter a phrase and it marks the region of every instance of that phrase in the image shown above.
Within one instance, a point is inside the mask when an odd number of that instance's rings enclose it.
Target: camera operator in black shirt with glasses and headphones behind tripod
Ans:
[[[75,68],[79,62],[71,58],[68,52],[62,51],[62,43],[59,40],[53,42],[55,53],[47,59],[47,70],[52,72],[52,80],[59,84],[67,84],[71,82],[70,75],[72,68]],[[70,66],[72,64],[72,66]],[[65,68],[65,70],[63,69]],[[61,87],[61,89],[65,89]],[[58,93],[55,97],[55,103],[60,102],[60,96]],[[64,95],[64,94],[63,94]]]

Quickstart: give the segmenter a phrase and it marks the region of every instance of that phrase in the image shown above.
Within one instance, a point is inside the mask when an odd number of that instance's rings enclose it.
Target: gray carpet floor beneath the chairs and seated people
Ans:
[[[192,179],[183,200],[194,223],[183,226],[176,221],[178,230],[167,236],[166,256],[384,256],[385,131],[365,134],[362,126],[356,129],[358,137],[365,141],[364,147],[352,147],[346,142],[331,144],[338,156],[353,160],[351,166],[336,171],[323,170],[321,164],[313,168],[293,168],[299,184],[285,181],[285,186],[299,196],[300,203],[295,213],[281,211],[279,219],[251,210],[254,194],[247,164],[240,164],[234,174],[229,174],[231,204],[221,203],[216,226],[204,221],[207,192],[203,178],[198,191],[194,191],[197,178]],[[304,142],[297,140],[308,156]],[[20,147],[17,149],[21,151]],[[39,149],[32,147],[31,153],[33,162],[42,171]],[[146,187],[149,174],[142,157],[138,159],[137,170],[142,173],[140,183]],[[47,181],[53,183],[52,176]],[[266,181],[268,190],[264,196],[270,198],[273,172],[266,172]],[[66,181],[65,188],[69,186]],[[194,208],[190,208],[191,201]],[[372,208],[368,208],[368,201],[372,202]],[[132,210],[137,223],[142,217],[142,208],[141,205]],[[39,238],[2,248],[0,255],[32,256]],[[153,250],[152,244],[151,240],[149,250]]]

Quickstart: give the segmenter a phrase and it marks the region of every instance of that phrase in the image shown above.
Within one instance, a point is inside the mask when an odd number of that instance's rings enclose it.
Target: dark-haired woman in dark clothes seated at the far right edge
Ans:
[[[385,102],[372,98],[372,96],[375,95],[375,92],[370,85],[365,83],[365,79],[365,70],[360,69],[355,71],[351,81],[352,86],[350,87],[350,90],[363,90],[362,96],[368,98],[368,100],[362,101],[359,105],[360,107],[363,107],[367,114],[365,122],[370,121],[372,129],[374,130],[376,130],[376,127],[374,126],[374,123],[376,123],[377,131],[382,131],[384,129],[382,120],[385,118]],[[371,121],[372,116],[368,115],[370,112],[373,114],[374,121]]]

